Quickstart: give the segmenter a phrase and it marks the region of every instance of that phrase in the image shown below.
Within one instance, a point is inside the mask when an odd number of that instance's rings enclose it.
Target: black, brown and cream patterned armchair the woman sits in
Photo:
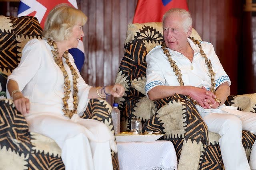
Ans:
[[[36,18],[0,16],[0,169],[64,170],[58,145],[48,137],[28,131],[26,119],[12,100],[3,99],[6,78],[18,66],[26,42],[33,38],[42,39],[42,28]],[[102,121],[114,134],[111,110],[105,100],[90,100],[82,118]],[[113,151],[112,162],[114,169],[119,169],[118,156]]]

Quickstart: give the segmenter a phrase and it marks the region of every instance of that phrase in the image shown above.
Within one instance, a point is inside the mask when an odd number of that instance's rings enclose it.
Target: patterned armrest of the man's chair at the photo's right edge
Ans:
[[[256,113],[256,93],[254,94],[242,94],[242,95],[230,95],[228,96],[226,106],[235,106],[239,110]]]

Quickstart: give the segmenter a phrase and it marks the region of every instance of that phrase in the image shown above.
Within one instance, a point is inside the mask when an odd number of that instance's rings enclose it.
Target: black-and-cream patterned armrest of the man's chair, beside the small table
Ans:
[[[192,100],[184,95],[154,102],[158,111],[144,124],[144,130],[158,131],[166,137],[182,137],[208,145],[208,127],[198,113]]]

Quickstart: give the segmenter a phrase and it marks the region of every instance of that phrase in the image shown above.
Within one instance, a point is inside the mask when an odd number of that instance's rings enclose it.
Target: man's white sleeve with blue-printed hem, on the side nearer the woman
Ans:
[[[148,55],[146,56],[147,77],[146,77],[145,90],[147,95],[152,88],[156,86],[163,86],[165,84],[165,79],[164,79],[162,69],[158,65],[160,64],[160,61],[161,61],[160,57],[163,57],[163,56],[160,54],[159,51],[148,53]]]

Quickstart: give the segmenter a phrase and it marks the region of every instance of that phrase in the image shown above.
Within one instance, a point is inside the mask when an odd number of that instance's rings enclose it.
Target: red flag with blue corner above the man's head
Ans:
[[[188,10],[186,0],[138,0],[133,23],[162,22],[162,17],[171,8]]]

